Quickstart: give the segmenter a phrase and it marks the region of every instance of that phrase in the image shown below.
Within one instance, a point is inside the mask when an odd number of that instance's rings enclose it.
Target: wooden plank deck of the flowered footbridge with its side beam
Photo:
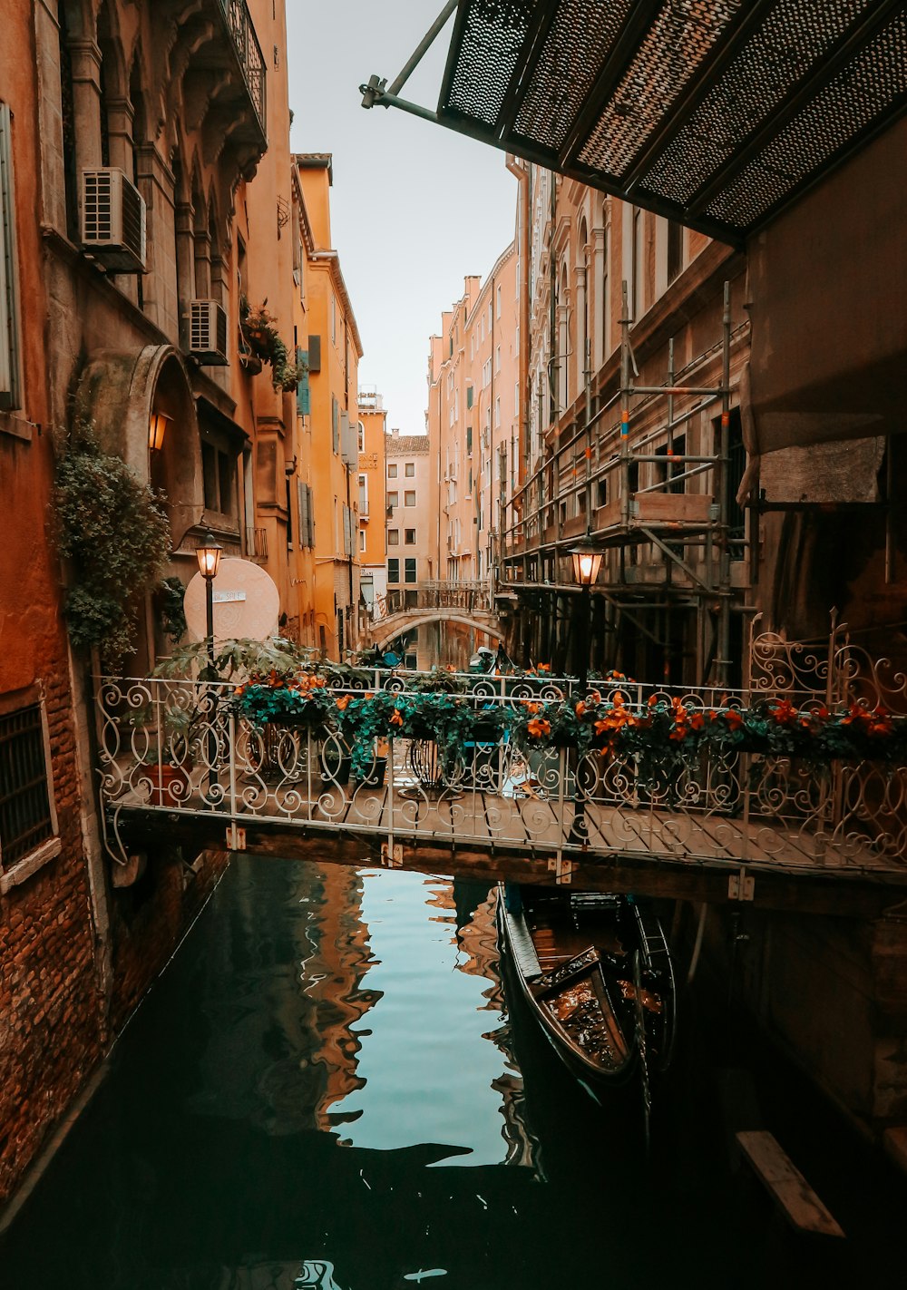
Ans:
[[[569,801],[475,791],[436,797],[413,784],[352,792],[333,786],[308,796],[297,784],[267,802],[239,793],[231,810],[230,799],[212,806],[203,777],[194,779],[178,805],[154,805],[141,789],[116,802],[125,850],[151,838],[223,846],[226,837],[261,854],[710,900],[739,893],[729,878],[744,869],[755,878],[746,898],[756,904],[853,915],[879,912],[907,888],[907,866],[867,841],[823,842],[765,819],[588,801],[583,845],[572,836]]]

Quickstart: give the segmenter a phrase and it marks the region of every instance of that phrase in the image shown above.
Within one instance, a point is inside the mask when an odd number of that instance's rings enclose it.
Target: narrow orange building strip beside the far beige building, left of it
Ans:
[[[375,390],[359,391],[359,561],[363,604],[374,617],[387,593],[384,440],[387,410]]]

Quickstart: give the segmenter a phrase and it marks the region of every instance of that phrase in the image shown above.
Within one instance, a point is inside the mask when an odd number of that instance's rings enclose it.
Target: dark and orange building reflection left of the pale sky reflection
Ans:
[[[381,997],[363,988],[373,962],[363,880],[341,866],[237,859],[232,888],[230,935],[206,964],[213,1024],[195,1109],[275,1135],[329,1129],[330,1107],[364,1082],[354,1028]],[[231,978],[239,1007],[222,993]]]

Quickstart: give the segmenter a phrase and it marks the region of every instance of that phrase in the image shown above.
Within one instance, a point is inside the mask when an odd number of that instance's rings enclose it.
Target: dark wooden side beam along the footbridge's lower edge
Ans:
[[[228,820],[222,815],[190,815],[129,808],[119,818],[119,835],[128,851],[151,850],[155,845],[181,845],[191,850],[223,850]],[[237,819],[245,831],[245,853],[262,858],[317,860],[328,864],[382,866],[379,832],[306,827]],[[524,882],[555,886],[555,853],[507,846],[457,846],[452,838],[395,835],[399,864],[417,873],[440,873],[476,881]],[[570,885],[578,891],[626,891],[671,900],[734,904],[729,899],[729,878],[739,873],[739,860],[711,866],[692,860],[653,859],[644,853],[583,851],[564,848],[563,857],[575,868]],[[755,878],[753,899],[746,908],[832,915],[852,918],[877,918],[903,899],[903,888],[886,886],[862,875],[791,873],[750,866]]]

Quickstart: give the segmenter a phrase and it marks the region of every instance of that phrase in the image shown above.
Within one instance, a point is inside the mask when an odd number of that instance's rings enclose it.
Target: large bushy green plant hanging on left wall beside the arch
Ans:
[[[98,646],[105,666],[134,653],[142,597],[170,552],[170,525],[147,484],[105,453],[84,405],[57,464],[59,553],[72,561],[66,618],[75,649]]]

